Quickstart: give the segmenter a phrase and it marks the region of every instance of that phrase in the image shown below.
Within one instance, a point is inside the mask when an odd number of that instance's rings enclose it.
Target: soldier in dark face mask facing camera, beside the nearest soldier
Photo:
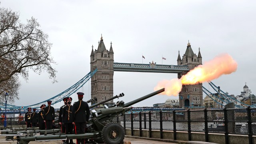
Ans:
[[[73,120],[72,120],[72,109],[73,106],[71,105],[72,98],[68,97],[66,98],[67,105],[62,107],[62,123],[65,125],[65,132],[66,134],[73,134]],[[68,139],[66,141],[66,144],[68,144]],[[74,144],[73,140],[71,139],[69,144]]]

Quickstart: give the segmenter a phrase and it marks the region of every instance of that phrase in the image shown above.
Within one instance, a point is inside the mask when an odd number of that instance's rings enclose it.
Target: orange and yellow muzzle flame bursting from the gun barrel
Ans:
[[[154,90],[165,88],[165,92],[160,94],[168,96],[178,96],[182,89],[182,84],[198,84],[219,78],[223,74],[231,74],[237,69],[237,63],[229,54],[222,54],[215,57],[213,60],[199,65],[193,70],[190,70],[180,79],[163,80],[158,83]]]

